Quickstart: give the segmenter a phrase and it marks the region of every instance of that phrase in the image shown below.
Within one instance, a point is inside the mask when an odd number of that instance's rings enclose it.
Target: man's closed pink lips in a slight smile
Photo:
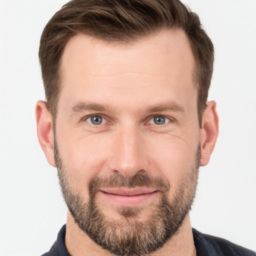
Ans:
[[[139,206],[158,194],[155,188],[101,188],[100,193],[118,206]]]

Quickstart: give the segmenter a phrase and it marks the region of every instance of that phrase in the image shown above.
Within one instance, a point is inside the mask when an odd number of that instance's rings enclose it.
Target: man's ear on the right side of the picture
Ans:
[[[200,130],[201,159],[200,166],[206,165],[215,146],[218,136],[218,115],[216,102],[209,101],[202,115],[202,127]]]

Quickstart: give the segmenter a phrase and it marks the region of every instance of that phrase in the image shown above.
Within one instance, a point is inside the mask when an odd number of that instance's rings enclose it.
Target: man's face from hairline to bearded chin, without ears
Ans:
[[[188,213],[200,156],[193,67],[181,30],[123,45],[80,34],[65,46],[60,185],[79,227],[113,253],[154,251]]]

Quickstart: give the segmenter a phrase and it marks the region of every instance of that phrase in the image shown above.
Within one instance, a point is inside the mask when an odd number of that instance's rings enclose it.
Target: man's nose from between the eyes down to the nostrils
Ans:
[[[148,157],[145,139],[135,127],[119,129],[112,140],[112,154],[109,157],[111,171],[126,177],[137,172],[148,171]]]

